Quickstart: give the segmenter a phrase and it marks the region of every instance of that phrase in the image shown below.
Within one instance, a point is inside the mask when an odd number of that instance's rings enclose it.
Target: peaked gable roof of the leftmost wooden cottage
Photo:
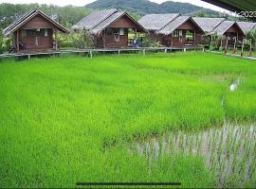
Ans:
[[[56,26],[60,31],[63,31],[64,33],[67,33],[68,30],[57,23],[56,21],[52,20],[50,17],[48,17],[44,12],[42,12],[39,9],[32,9],[30,11],[27,11],[25,14],[23,14],[21,17],[16,19],[14,22],[12,22],[9,26],[7,26],[3,30],[4,36],[9,36],[12,32],[19,29],[21,26],[24,26],[30,19],[32,19],[36,15],[43,16],[48,22],[52,23],[54,26]]]

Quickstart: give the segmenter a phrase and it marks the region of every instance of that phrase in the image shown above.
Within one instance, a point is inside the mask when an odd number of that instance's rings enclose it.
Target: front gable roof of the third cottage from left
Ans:
[[[162,29],[157,31],[157,34],[163,34],[163,35],[169,35],[174,32],[175,29],[177,29],[179,26],[186,23],[188,20],[191,20],[192,23],[197,26],[203,33],[204,30],[198,26],[194,21],[192,20],[192,17],[190,16],[178,16],[176,17],[172,22],[170,22],[168,25],[164,26]]]

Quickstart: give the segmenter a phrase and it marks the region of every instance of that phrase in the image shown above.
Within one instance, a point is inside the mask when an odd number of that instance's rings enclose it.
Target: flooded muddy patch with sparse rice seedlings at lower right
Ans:
[[[160,137],[137,139],[131,149],[145,156],[149,163],[157,163],[164,155],[172,158],[175,152],[201,156],[217,175],[220,187],[234,174],[238,174],[243,184],[256,168],[256,127],[227,124],[197,133],[169,132]]]

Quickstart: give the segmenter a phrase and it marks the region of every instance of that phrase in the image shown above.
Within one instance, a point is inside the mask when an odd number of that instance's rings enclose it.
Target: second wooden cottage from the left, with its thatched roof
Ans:
[[[135,36],[138,32],[147,32],[128,13],[117,9],[93,12],[72,26],[72,29],[86,29],[93,36],[95,45],[101,48],[128,47],[129,31],[133,31]]]

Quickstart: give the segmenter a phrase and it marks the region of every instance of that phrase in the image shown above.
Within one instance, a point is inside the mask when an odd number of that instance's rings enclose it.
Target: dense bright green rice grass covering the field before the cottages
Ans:
[[[255,74],[254,61],[203,53],[2,60],[0,187],[77,181],[212,187],[215,177],[200,158],[178,154],[149,173],[147,160],[124,146],[167,129],[221,126],[225,116],[255,122]],[[242,84],[231,93],[237,77]]]

